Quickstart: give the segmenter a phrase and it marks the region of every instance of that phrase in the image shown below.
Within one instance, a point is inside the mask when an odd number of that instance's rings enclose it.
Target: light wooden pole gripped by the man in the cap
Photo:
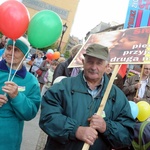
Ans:
[[[106,104],[106,102],[107,102],[107,98],[108,98],[108,96],[109,96],[109,93],[110,93],[110,90],[111,90],[111,87],[112,87],[112,84],[113,84],[113,82],[114,82],[114,79],[115,79],[115,77],[116,77],[116,75],[117,75],[117,73],[118,73],[118,70],[119,70],[120,66],[121,66],[121,65],[115,65],[115,68],[114,68],[114,70],[113,70],[113,74],[112,74],[112,76],[111,76],[111,78],[110,78],[110,80],[109,80],[109,83],[108,83],[108,85],[107,85],[105,95],[104,95],[104,97],[103,97],[103,99],[102,99],[102,102],[101,102],[99,108],[98,108],[98,111],[97,111],[97,114],[98,114],[98,115],[101,115],[102,112],[103,112],[103,110],[104,110],[105,104]],[[89,144],[84,143],[84,145],[83,145],[83,147],[82,147],[82,150],[88,150],[89,147],[90,147]]]

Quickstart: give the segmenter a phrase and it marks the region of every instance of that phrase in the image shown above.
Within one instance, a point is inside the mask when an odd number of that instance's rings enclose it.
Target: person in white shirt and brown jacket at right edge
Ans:
[[[136,103],[144,100],[150,103],[150,64],[143,66],[141,80],[139,75],[127,78],[122,90],[128,100]]]

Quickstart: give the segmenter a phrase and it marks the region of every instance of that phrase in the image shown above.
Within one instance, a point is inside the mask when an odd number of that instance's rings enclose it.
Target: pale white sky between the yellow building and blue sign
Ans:
[[[125,22],[129,0],[79,0],[70,35],[84,39],[101,21]]]

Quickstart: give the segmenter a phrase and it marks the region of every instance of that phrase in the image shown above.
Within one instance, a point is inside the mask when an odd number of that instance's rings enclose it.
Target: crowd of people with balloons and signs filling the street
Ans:
[[[13,48],[13,41],[7,40],[0,61],[0,149],[20,150],[24,121],[33,119],[39,108],[39,128],[48,136],[44,150],[81,150],[84,143],[90,150],[132,149],[137,120],[129,101],[150,103],[150,64],[139,65],[141,77],[124,80],[117,74],[103,113],[97,114],[114,65],[109,63],[108,47],[90,44],[83,67],[68,68],[81,47],[75,45],[68,59],[57,60],[37,50],[27,71],[23,60],[30,51],[29,42],[21,37]],[[56,82],[59,77],[63,79]]]

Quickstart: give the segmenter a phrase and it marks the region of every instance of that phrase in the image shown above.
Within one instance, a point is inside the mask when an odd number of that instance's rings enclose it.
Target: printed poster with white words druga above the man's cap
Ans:
[[[68,68],[82,67],[83,54],[88,45],[107,46],[112,64],[150,63],[150,27],[130,28],[92,34],[77,53]]]

